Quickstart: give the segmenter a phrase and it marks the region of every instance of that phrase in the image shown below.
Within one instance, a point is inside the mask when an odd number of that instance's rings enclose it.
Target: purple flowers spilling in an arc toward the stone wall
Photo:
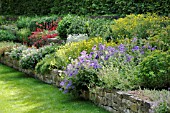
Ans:
[[[133,39],[133,42],[137,39]],[[106,47],[103,44],[99,44],[98,48],[96,45],[92,47],[92,51],[88,54],[87,51],[82,51],[80,56],[75,59],[71,64],[68,64],[65,70],[65,80],[63,80],[60,83],[60,86],[64,89],[65,92],[68,92],[68,90],[73,90],[74,83],[72,83],[72,79],[76,78],[79,74],[80,70],[84,69],[94,69],[98,70],[102,68],[103,64],[107,64],[111,60],[123,61],[124,63],[129,63],[131,61],[134,61],[132,59],[138,58],[138,56],[134,55],[143,55],[146,49],[149,49],[153,51],[156,49],[155,47],[151,46],[133,46],[133,47],[126,47],[124,44],[120,44],[117,47]],[[133,54],[134,52],[137,52],[138,54]],[[118,59],[118,60],[117,60]],[[71,78],[71,79],[70,79]]]

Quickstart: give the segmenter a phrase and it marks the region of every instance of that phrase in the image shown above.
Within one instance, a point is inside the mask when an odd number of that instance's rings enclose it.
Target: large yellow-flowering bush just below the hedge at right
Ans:
[[[157,35],[159,31],[170,24],[168,17],[159,17],[155,14],[128,15],[125,18],[119,18],[112,25],[113,39],[124,38],[143,38],[148,39]]]

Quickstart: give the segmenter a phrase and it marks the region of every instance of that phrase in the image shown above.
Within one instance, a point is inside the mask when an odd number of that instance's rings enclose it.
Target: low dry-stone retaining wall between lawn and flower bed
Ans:
[[[60,87],[61,77],[59,71],[56,69],[52,70],[48,75],[36,74],[34,70],[19,67],[19,61],[11,59],[8,55],[0,57],[0,63],[45,83]],[[155,102],[140,99],[133,94],[117,90],[107,90],[100,87],[92,88],[89,92],[84,91],[81,96],[112,113],[153,113],[156,107]]]

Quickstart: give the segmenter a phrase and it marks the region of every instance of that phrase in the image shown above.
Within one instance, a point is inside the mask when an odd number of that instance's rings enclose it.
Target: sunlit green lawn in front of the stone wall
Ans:
[[[0,64],[0,113],[108,113]]]

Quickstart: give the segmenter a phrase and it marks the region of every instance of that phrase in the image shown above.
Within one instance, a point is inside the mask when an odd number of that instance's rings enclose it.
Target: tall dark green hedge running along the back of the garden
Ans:
[[[0,14],[130,14],[168,15],[170,0],[1,0]]]

